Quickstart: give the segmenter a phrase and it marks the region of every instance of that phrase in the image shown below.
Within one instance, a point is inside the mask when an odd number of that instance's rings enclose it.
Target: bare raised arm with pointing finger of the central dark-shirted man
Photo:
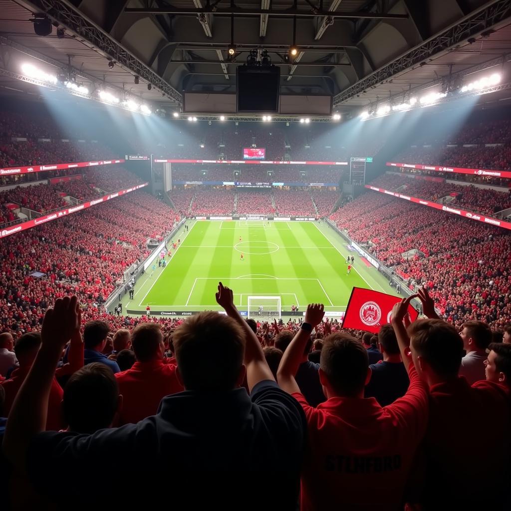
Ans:
[[[264,357],[263,348],[257,336],[252,332],[247,322],[241,317],[238,309],[234,305],[233,290],[225,287],[221,282],[218,283],[218,292],[215,295],[217,304],[220,305],[227,316],[233,318],[245,333],[245,358],[244,364],[247,368],[248,390],[263,380],[273,380],[273,374]]]

